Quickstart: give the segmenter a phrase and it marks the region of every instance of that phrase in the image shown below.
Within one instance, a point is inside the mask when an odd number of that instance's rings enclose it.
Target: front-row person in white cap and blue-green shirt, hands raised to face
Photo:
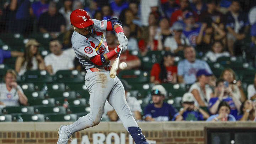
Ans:
[[[179,111],[182,119],[180,121],[203,121],[209,114],[202,108],[194,105],[194,97],[191,93],[185,93],[182,97],[182,110]],[[177,119],[178,121],[178,119]]]

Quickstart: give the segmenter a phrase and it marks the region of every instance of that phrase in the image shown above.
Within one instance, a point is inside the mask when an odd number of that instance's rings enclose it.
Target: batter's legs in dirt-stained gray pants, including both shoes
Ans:
[[[105,102],[108,100],[123,122],[123,126],[132,135],[135,143],[148,144],[141,129],[138,127],[138,124],[132,116],[130,108],[126,102],[124,87],[117,77],[113,79],[110,78],[109,71],[91,72],[90,70],[87,70],[85,85],[90,94],[91,112],[86,116],[79,118],[78,121],[69,126],[60,127],[58,142],[61,142],[62,138],[68,141],[68,137],[73,133],[96,126],[100,123]]]

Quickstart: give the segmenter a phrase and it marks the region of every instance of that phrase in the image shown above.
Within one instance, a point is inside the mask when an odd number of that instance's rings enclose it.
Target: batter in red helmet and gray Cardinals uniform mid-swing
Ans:
[[[76,57],[86,69],[85,85],[90,94],[91,112],[73,124],[60,126],[57,144],[68,144],[73,133],[99,124],[106,100],[117,112],[134,142],[148,144],[127,105],[121,81],[117,77],[110,77],[110,59],[117,55],[121,47],[123,51],[127,49],[127,38],[123,33],[122,22],[116,18],[102,21],[91,19],[82,9],[74,10],[70,15],[70,21],[74,27],[72,47]],[[111,52],[108,50],[102,31],[117,33],[120,45]]]

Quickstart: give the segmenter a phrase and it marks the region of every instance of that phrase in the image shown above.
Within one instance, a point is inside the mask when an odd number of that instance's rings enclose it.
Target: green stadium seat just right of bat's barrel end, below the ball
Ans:
[[[149,74],[141,70],[122,70],[118,78],[126,80],[129,84],[145,83],[149,81]]]

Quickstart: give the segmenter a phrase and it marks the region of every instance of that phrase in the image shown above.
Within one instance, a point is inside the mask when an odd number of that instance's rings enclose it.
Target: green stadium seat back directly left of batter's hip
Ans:
[[[78,70],[59,70],[53,77],[56,82],[79,83],[84,82],[84,76]]]

